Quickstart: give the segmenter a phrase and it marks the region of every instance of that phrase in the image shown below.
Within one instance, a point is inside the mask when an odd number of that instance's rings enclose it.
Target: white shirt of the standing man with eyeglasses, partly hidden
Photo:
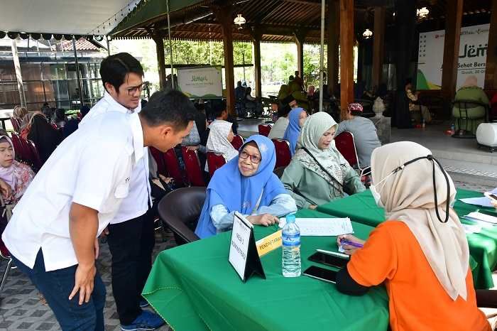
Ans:
[[[131,114],[141,112],[141,105],[138,104],[136,109],[127,109],[123,105],[116,102],[107,92],[104,92],[104,97],[95,104],[89,113],[83,117],[80,122],[80,127],[92,125],[92,121],[102,114],[107,112],[119,112],[121,114]],[[138,164],[133,169],[129,184],[129,195],[124,198],[121,203],[121,208],[116,213],[111,224],[126,222],[144,215],[148,210],[148,203],[152,205],[150,182],[148,181],[150,170],[148,169],[148,148],[144,147],[143,158],[138,161]]]

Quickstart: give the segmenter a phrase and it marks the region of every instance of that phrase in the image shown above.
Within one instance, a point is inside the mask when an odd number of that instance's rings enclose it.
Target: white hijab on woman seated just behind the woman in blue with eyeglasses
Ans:
[[[238,151],[231,145],[234,134],[231,129],[233,123],[217,119],[209,125],[209,138],[207,139],[207,151],[214,153],[222,153],[226,162],[231,158],[238,156]],[[205,163],[205,171],[208,171],[207,163]]]

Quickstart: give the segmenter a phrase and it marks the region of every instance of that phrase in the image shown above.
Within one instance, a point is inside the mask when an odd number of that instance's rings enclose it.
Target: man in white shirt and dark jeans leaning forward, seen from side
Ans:
[[[194,115],[190,100],[173,91],[158,92],[139,114],[97,116],[62,141],[18,202],[2,239],[62,330],[104,330],[97,237],[129,195],[143,147],[168,151]]]

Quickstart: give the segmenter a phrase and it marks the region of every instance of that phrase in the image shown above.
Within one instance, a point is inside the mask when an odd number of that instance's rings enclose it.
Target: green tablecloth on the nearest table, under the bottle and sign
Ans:
[[[329,217],[302,210],[297,217]],[[358,237],[373,229],[353,223]],[[255,228],[261,239],[276,227]],[[231,232],[162,251],[143,296],[175,331],[386,330],[388,295],[383,287],[354,297],[307,276],[281,276],[281,249],[261,257],[266,280],[242,283],[228,262]],[[302,271],[315,249],[337,251],[335,237],[302,237]],[[322,265],[321,265],[322,266]],[[326,266],[323,266],[326,267]]]

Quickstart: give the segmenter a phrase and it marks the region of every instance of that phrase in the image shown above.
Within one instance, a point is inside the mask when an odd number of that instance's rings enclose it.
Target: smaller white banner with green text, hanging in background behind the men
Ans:
[[[223,95],[221,67],[178,69],[178,87],[190,98],[212,99]]]

